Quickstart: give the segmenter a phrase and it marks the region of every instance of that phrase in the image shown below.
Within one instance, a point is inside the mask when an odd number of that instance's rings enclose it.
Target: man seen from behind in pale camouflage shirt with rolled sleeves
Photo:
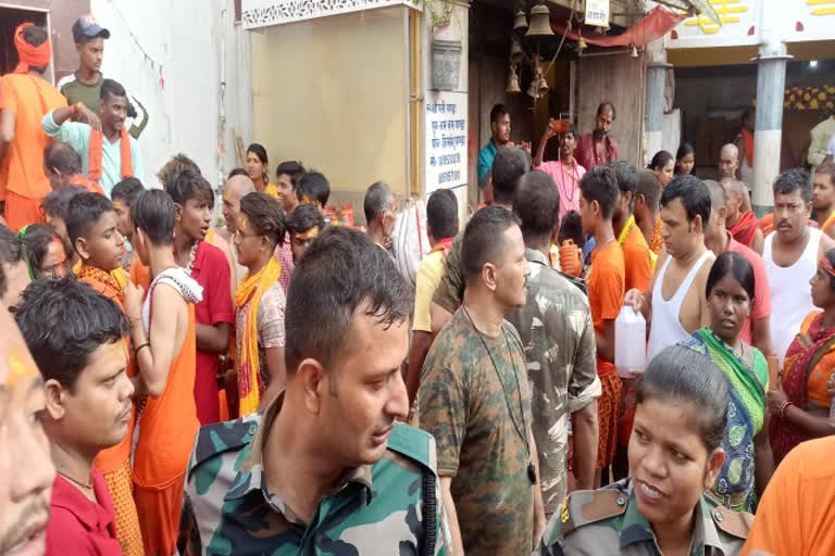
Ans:
[[[595,328],[586,296],[548,265],[548,251],[559,232],[560,197],[553,179],[543,172],[525,174],[513,211],[522,219],[531,276],[525,306],[508,315],[508,320],[516,327],[525,350],[543,502],[550,517],[568,493],[571,416],[577,488],[594,488],[596,400],[600,396]]]

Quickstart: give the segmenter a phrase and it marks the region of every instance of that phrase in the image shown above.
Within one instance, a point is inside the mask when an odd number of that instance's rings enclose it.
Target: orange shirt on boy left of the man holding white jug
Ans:
[[[591,265],[586,275],[588,281],[588,306],[595,332],[603,333],[603,321],[614,320],[621,312],[626,293],[626,270],[623,250],[618,241],[610,241],[591,253]],[[597,374],[601,377],[614,372],[614,364],[597,357]]]

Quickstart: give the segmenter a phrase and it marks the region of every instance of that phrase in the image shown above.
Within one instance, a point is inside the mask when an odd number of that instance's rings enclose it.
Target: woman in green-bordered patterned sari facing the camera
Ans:
[[[708,357],[725,374],[731,389],[727,428],[722,440],[725,465],[713,494],[736,511],[751,511],[755,484],[761,494],[774,470],[765,421],[769,368],[757,348],[739,339],[751,314],[753,267],[743,255],[725,252],[708,275],[710,326],[697,330],[687,344]]]

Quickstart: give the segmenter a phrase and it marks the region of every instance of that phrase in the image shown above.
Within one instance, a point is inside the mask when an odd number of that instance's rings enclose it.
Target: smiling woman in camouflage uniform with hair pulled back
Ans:
[[[751,517],[705,493],[725,463],[727,379],[696,351],[668,348],[647,366],[636,400],[631,477],[572,493],[539,554],[738,554]]]

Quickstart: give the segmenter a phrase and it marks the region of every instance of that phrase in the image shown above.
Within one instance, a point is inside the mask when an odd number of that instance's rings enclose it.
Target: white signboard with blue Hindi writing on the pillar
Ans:
[[[427,91],[426,195],[466,186],[466,92]]]

